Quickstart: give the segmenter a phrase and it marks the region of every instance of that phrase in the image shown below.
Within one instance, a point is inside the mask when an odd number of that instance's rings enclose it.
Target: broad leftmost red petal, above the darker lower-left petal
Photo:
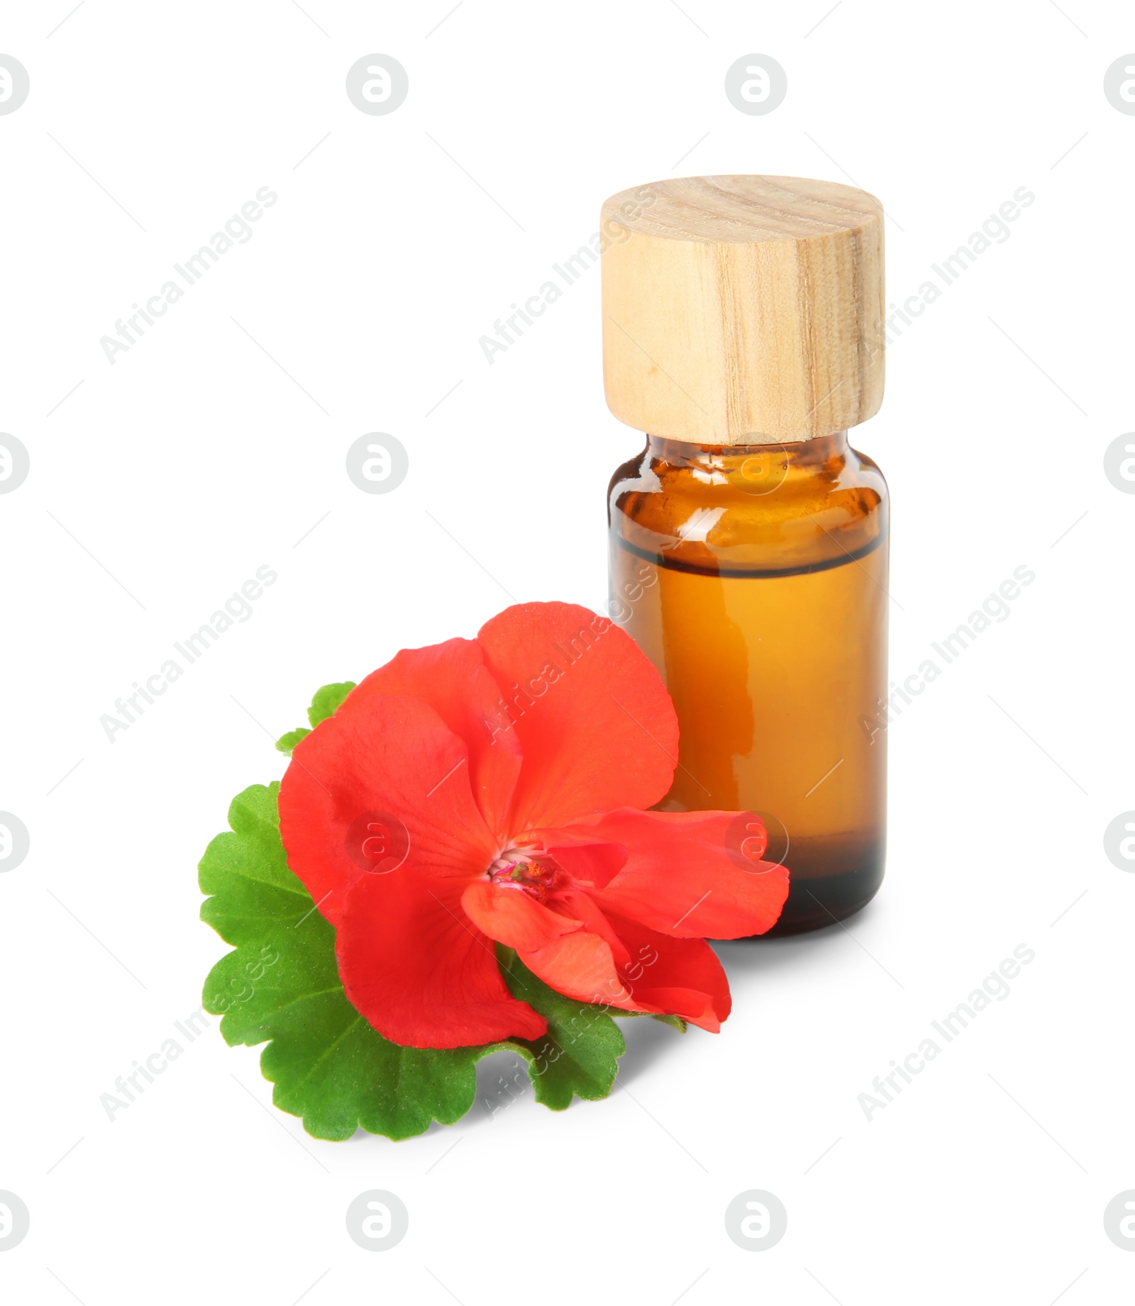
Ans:
[[[280,788],[287,865],[332,925],[351,885],[383,866],[360,855],[363,840],[379,852],[383,825],[396,849],[387,865],[405,858],[379,879],[472,878],[499,852],[469,789],[464,743],[426,704],[374,695],[300,741]]]

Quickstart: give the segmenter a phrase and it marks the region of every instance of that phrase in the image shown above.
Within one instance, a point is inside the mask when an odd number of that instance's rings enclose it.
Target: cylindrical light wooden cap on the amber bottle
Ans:
[[[883,402],[883,208],[794,176],[687,176],[602,208],[603,381],[699,444],[832,435]]]

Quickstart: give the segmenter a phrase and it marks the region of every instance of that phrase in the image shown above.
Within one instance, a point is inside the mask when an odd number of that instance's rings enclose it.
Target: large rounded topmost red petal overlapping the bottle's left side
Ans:
[[[572,603],[521,603],[494,616],[477,643],[524,752],[513,835],[662,798],[678,757],[678,718],[624,631]]]

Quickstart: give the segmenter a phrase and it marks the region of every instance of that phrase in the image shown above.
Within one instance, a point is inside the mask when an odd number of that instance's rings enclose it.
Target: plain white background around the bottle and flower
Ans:
[[[1102,1212],[1135,1187],[1135,876],[1102,833],[1135,807],[1135,498],[1102,456],[1135,424],[1135,118],[1102,77],[1130,13],[86,0],[48,37],[68,8],[9,7],[0,38],[31,78],[0,118],[0,427],[31,454],[0,498],[0,807],[31,832],[0,876],[0,1188],[31,1211],[5,1301],[1126,1299]],[[409,72],[388,116],[344,90],[372,52]],[[751,52],[789,78],[767,116],[722,89]],[[889,729],[879,897],[725,947],[724,1032],[627,1023],[605,1102],[490,1113],[494,1063],[455,1128],[321,1143],[213,1023],[110,1122],[99,1094],[226,951],[196,861],[311,691],[509,596],[602,602],[605,488],[641,438],[603,404],[598,269],[492,366],[478,337],[606,195],[696,172],[878,195],[895,300],[1036,195],[893,342],[854,434],[893,495],[892,675],[1036,572]],[[99,337],[264,185],[253,238],[111,366]],[[368,431],[409,449],[393,494],[345,474]],[[110,743],[99,717],[261,564],[252,618]],[[1021,943],[1011,996],[869,1123],[858,1094]],[[381,1255],[344,1226],[367,1188],[410,1212]],[[759,1255],[722,1222],[747,1188],[789,1213]]]

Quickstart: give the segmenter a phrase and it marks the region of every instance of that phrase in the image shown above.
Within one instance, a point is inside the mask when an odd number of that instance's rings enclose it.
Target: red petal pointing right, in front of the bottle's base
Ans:
[[[626,865],[593,896],[615,912],[679,939],[739,939],[764,934],[788,897],[788,868],[751,861],[742,849],[761,833],[748,812],[640,812],[630,808],[543,831],[549,853],[558,840],[618,844]],[[763,828],[761,828],[763,829]],[[609,854],[605,854],[609,861]]]

